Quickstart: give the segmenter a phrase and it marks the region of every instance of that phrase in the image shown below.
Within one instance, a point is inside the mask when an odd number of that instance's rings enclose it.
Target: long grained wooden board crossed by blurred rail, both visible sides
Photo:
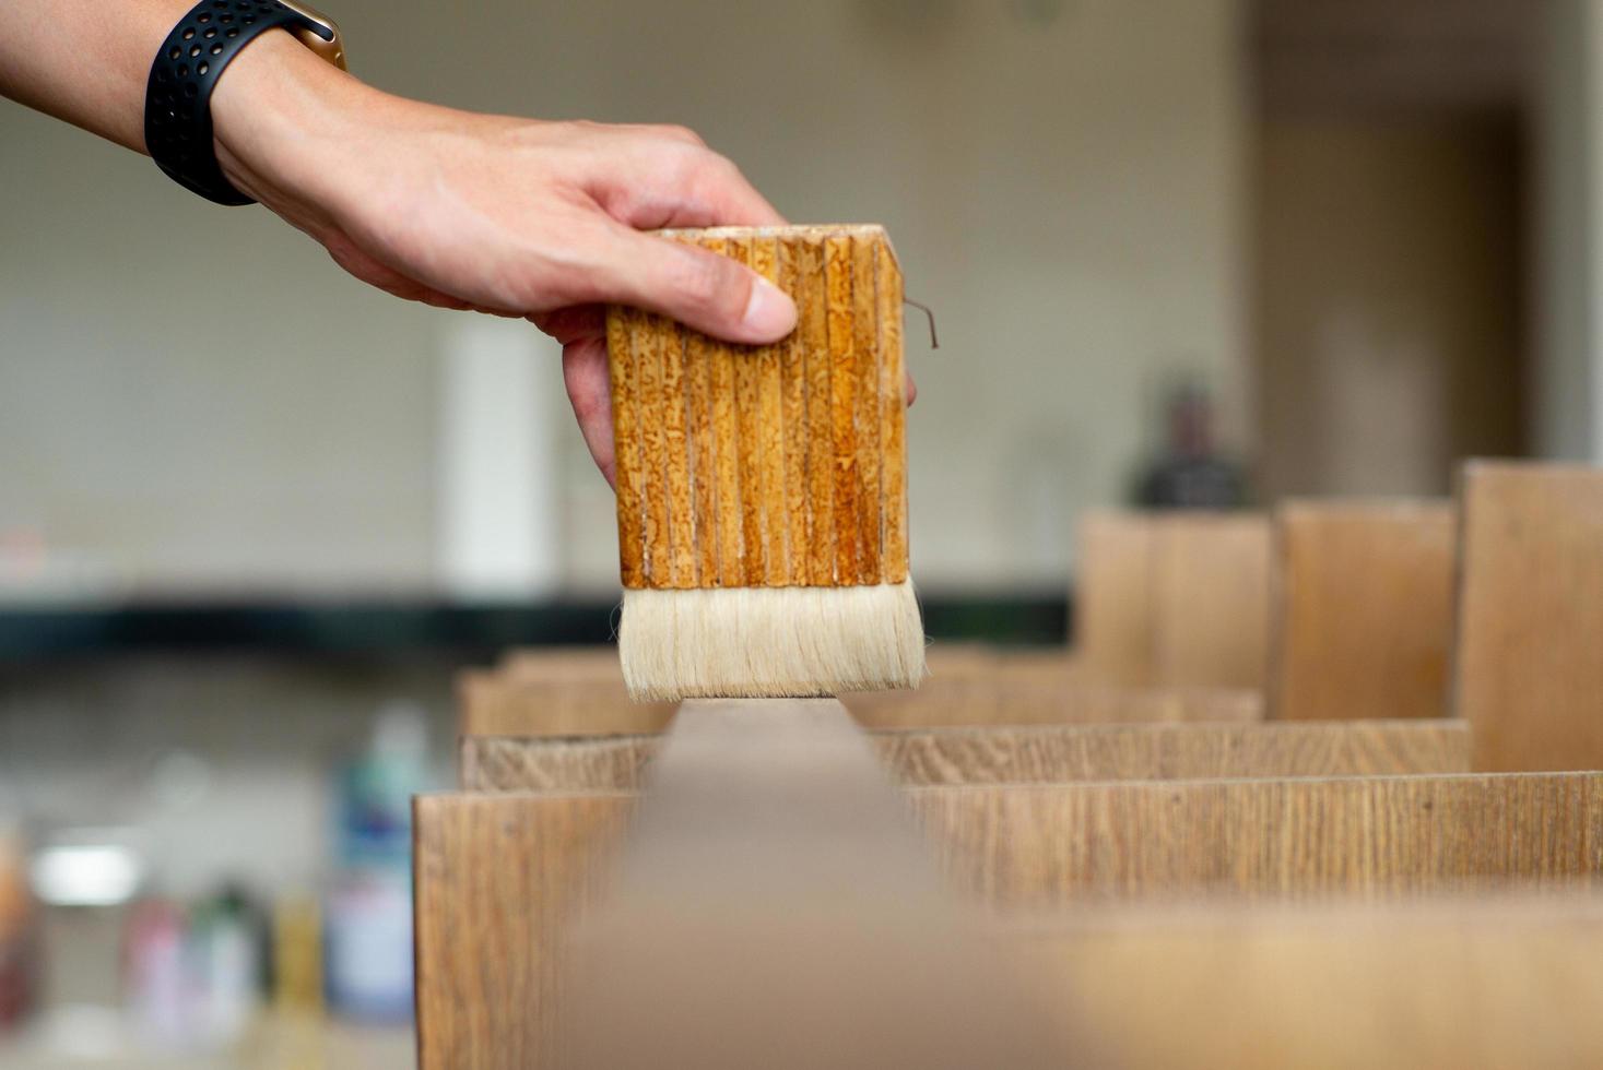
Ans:
[[[906,798],[952,883],[994,908],[1558,889],[1603,870],[1603,774],[941,786]],[[417,799],[425,1070],[539,1065],[561,1012],[564,934],[603,891],[633,807],[630,794]]]

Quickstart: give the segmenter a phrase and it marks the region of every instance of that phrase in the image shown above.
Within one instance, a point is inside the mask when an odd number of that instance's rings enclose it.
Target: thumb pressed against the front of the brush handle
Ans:
[[[686,327],[745,344],[779,341],[797,325],[795,303],[768,279],[728,256],[620,227],[611,271],[619,301],[676,319]]]

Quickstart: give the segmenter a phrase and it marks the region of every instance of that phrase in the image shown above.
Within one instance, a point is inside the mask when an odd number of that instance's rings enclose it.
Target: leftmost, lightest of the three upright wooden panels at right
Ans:
[[[1080,524],[1076,591],[1077,649],[1088,678],[1265,686],[1268,517],[1093,511]]]

